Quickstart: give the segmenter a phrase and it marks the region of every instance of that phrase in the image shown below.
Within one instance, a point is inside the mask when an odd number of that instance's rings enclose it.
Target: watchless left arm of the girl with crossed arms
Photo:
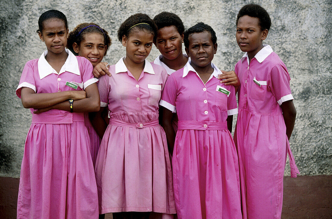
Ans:
[[[85,91],[62,91],[56,93],[36,94],[31,88],[21,89],[21,101],[24,108],[41,109],[53,106],[68,99],[81,100],[86,98]]]

